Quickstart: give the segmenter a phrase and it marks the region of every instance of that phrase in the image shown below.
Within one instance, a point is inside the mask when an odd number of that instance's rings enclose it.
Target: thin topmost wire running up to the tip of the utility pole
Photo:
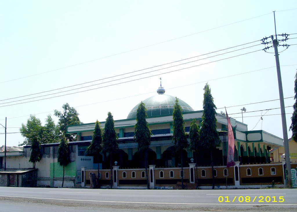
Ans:
[[[253,18],[259,18],[259,17],[261,17],[261,16],[269,15],[269,14],[271,14],[271,13],[267,13],[267,14],[263,14],[263,15],[255,16],[255,17],[253,17]],[[57,70],[61,70],[61,69],[66,69],[66,68],[70,68],[70,67],[74,67],[74,66],[78,66],[78,65],[86,64],[86,63],[93,62],[93,61],[97,61],[97,60],[101,60],[101,59],[104,59],[104,58],[108,58],[108,57],[112,57],[112,56],[116,56],[116,55],[120,55],[120,54],[128,53],[128,52],[131,52],[131,51],[135,51],[135,50],[139,50],[139,49],[147,48],[147,47],[150,47],[150,46],[154,46],[154,45],[162,44],[162,43],[169,42],[169,41],[173,41],[173,40],[176,40],[176,39],[180,39],[180,38],[184,38],[184,37],[192,36],[192,35],[199,34],[199,33],[206,32],[206,31],[210,31],[210,30],[213,30],[213,29],[218,29],[218,28],[221,28],[221,27],[224,27],[224,26],[229,26],[229,25],[232,25],[232,24],[235,24],[235,23],[240,23],[240,22],[243,22],[243,21],[246,21],[246,20],[251,20],[251,19],[253,19],[253,18],[248,18],[248,19],[245,19],[245,20],[240,20],[240,21],[237,21],[237,22],[233,22],[233,23],[229,23],[229,24],[223,25],[223,26],[218,26],[218,27],[215,27],[215,28],[212,28],[212,29],[207,29],[207,30],[200,31],[200,32],[196,32],[196,33],[193,33],[193,34],[188,34],[188,35],[185,35],[185,36],[182,36],[182,37],[177,37],[177,38],[174,38],[174,39],[170,39],[170,40],[162,41],[162,42],[155,43],[155,44],[152,44],[152,45],[148,45],[148,46],[144,46],[144,47],[140,47],[140,48],[136,48],[136,49],[132,49],[132,50],[128,50],[128,51],[124,51],[124,52],[121,52],[121,53],[116,53],[116,54],[113,54],[113,55],[109,55],[109,56],[105,56],[105,57],[97,58],[97,59],[94,59],[94,60],[85,61],[85,62],[82,62],[82,63],[77,63],[77,64],[73,64],[73,65],[69,65],[69,66],[61,67],[61,68],[58,68],[58,69],[53,69],[53,70],[46,71],[46,72],[41,72],[41,73],[34,74],[34,75],[29,75],[29,76],[25,76],[25,77],[20,77],[20,78],[16,78],[16,79],[13,79],[13,80],[7,80],[7,81],[3,81],[3,82],[0,82],[0,83],[11,82],[11,81],[14,81],[14,80],[19,80],[19,79],[23,79],[23,78],[27,78],[27,77],[32,77],[32,76],[36,76],[36,75],[45,74],[45,73],[48,73],[48,72],[53,72],[53,71],[57,71]]]

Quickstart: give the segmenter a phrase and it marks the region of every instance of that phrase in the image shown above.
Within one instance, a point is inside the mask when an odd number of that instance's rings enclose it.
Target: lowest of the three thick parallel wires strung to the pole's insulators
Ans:
[[[213,63],[213,62],[222,61],[222,60],[225,60],[225,59],[230,59],[230,58],[234,58],[234,57],[246,55],[246,54],[249,54],[249,53],[254,53],[254,52],[257,52],[257,51],[261,51],[261,50],[262,49],[255,50],[255,51],[248,52],[248,53],[244,53],[244,54],[240,54],[240,55],[236,55],[236,56],[232,56],[232,57],[228,57],[228,58],[223,58],[223,59],[216,60],[216,61],[211,61],[211,62],[204,63],[204,64],[199,64],[199,65],[195,65],[195,66],[191,66],[191,67],[177,69],[177,70],[165,72],[165,73],[162,73],[162,74],[172,73],[172,72],[176,72],[176,71],[180,71],[180,70],[184,70],[184,69],[188,69],[188,68],[193,68],[193,67],[197,67],[197,66],[201,66],[201,65],[205,65],[205,64],[210,64],[210,63]],[[151,75],[151,76],[147,76],[147,77],[142,77],[142,78],[139,78],[139,79],[129,80],[129,81],[126,81],[126,82],[116,83],[116,84],[112,84],[112,85],[102,86],[102,87],[99,87],[99,88],[105,88],[105,87],[109,87],[109,86],[114,86],[114,85],[119,85],[119,84],[123,84],[123,83],[128,83],[128,82],[132,82],[132,81],[136,81],[136,80],[141,80],[141,79],[145,79],[145,78],[149,78],[149,77],[154,77],[154,76],[157,76],[157,75],[160,75],[160,74]],[[89,90],[78,91],[78,92],[74,92],[74,93],[70,93],[70,94],[77,94],[77,93],[81,93],[81,92],[85,92],[85,91],[91,91],[91,90],[95,90],[95,89],[99,89],[99,88],[92,88],[92,89],[89,89]],[[52,98],[56,98],[56,97],[60,97],[60,96],[67,96],[67,95],[70,95],[70,94],[63,94],[63,95],[59,95],[59,96],[52,96],[52,97],[48,97],[48,98],[44,98],[44,99],[32,100],[32,101],[28,101],[28,102],[36,102],[36,101],[45,100],[45,99],[52,99]],[[22,100],[18,100],[18,101],[22,101]],[[19,104],[24,104],[24,103],[28,103],[28,102],[21,102],[21,103],[16,103],[16,104],[11,104],[11,105],[19,105]],[[2,103],[2,104],[5,104],[5,103]],[[7,107],[7,106],[11,106],[11,105],[4,105],[4,106],[0,106],[0,107]]]

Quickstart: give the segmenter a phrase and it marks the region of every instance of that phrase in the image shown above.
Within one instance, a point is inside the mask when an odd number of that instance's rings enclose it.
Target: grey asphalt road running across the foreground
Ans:
[[[1,211],[297,211],[297,189],[0,187]]]

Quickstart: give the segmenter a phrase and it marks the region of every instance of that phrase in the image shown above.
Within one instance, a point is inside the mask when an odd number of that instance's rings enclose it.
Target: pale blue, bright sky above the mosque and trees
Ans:
[[[297,1],[286,1],[286,4],[280,4],[279,1],[263,3],[259,1],[244,3],[242,1],[0,1],[0,82],[2,82],[0,83],[2,91],[0,100],[85,83],[257,41],[274,34],[272,12],[274,10],[277,11],[277,33],[297,33]],[[186,35],[190,36],[183,37]],[[290,37],[295,38],[297,34]],[[257,44],[260,44],[260,41],[243,47]],[[288,40],[287,44],[297,44],[297,39]],[[166,89],[166,94],[177,96],[187,102],[194,110],[202,110],[204,81],[208,81],[211,86],[214,103],[218,108],[278,99],[274,54],[264,51],[164,74],[164,72],[262,48],[264,45],[258,45],[169,69],[118,80],[113,83],[157,75],[79,94],[7,107],[1,106],[8,104],[1,104],[0,123],[5,125],[5,117],[7,117],[7,127],[12,127],[7,128],[7,132],[19,132],[18,127],[22,123],[26,123],[30,114],[36,114],[44,124],[46,116],[48,114],[53,115],[53,110],[61,109],[61,106],[66,102],[70,106],[76,107],[80,113],[79,117],[84,123],[95,122],[97,119],[104,121],[109,111],[115,120],[124,119],[141,100],[157,94],[155,91],[159,87],[159,77],[162,77],[162,85]],[[238,48],[230,50],[235,49]],[[282,50],[283,48],[280,47],[279,52]],[[122,53],[126,51],[129,52]],[[273,52],[273,48],[269,51]],[[214,56],[219,53],[207,56]],[[114,54],[118,55],[111,56]],[[294,96],[296,55],[297,45],[292,45],[280,53],[280,64],[292,65],[281,67],[285,97]],[[192,60],[195,59],[186,62]],[[79,63],[84,64],[72,66]],[[68,68],[59,69],[63,67]],[[220,77],[268,67],[274,68],[211,81]],[[51,71],[54,69],[58,70]],[[137,73],[156,69],[159,68]],[[27,77],[29,75],[35,76]],[[130,75],[132,74],[124,76]],[[115,79],[119,78],[121,77]],[[105,81],[108,80],[89,83],[85,86]],[[92,86],[89,89],[113,83]],[[193,85],[185,86],[189,84]],[[178,86],[182,87],[175,88]],[[27,98],[30,97],[34,96]],[[11,99],[10,101],[15,100],[19,99]],[[10,101],[0,101],[0,103]],[[293,103],[293,98],[285,100],[285,106],[292,106]],[[247,112],[263,110],[262,114],[264,114],[266,113],[265,109],[280,107],[279,105],[279,101],[274,101],[246,105],[245,107]],[[227,112],[229,114],[241,113],[242,107],[231,107],[227,109]],[[217,112],[220,111],[221,109],[217,110]],[[292,113],[292,111],[291,107],[286,108],[286,113]],[[269,110],[266,115],[279,113],[279,109]],[[261,111],[244,114],[244,116],[259,115],[261,115]],[[236,120],[241,121],[241,114],[230,116],[239,117]],[[290,117],[291,114],[287,114],[288,126],[291,123]],[[57,119],[53,118],[57,122]],[[246,117],[244,123],[248,124],[248,129],[251,130],[259,119],[260,117]],[[283,137],[280,115],[263,116],[263,123],[260,121],[254,130],[261,129],[261,127],[269,133]],[[0,133],[4,133],[3,128]],[[291,137],[291,132],[289,132],[289,137]],[[24,138],[20,133],[7,135],[7,145],[18,145],[23,140]],[[4,135],[0,135],[0,145],[4,145]]]

